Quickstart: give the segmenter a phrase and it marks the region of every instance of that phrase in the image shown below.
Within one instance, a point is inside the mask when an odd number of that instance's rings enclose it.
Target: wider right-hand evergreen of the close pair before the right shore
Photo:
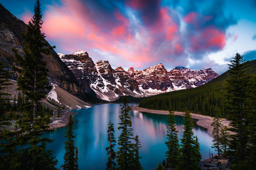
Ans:
[[[193,137],[193,119],[189,111],[184,116],[184,132],[181,139],[181,154],[178,157],[178,169],[194,170],[199,169],[198,163],[201,161],[201,154],[197,137]]]

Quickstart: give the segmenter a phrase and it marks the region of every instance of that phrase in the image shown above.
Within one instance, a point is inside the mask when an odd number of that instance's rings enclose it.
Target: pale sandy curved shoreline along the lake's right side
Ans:
[[[146,113],[152,113],[152,114],[159,114],[159,115],[168,115],[169,111],[159,111],[159,110],[153,110],[153,109],[147,109],[147,108],[139,108],[139,106],[132,106],[133,111],[139,111],[139,112],[146,112]],[[178,116],[184,116],[184,112],[177,112],[174,111],[174,115]],[[198,115],[195,113],[191,113],[191,117],[193,119],[196,119],[196,125],[201,126],[202,128],[205,128],[207,132],[210,134],[211,137],[213,137],[213,127],[210,125],[213,121],[213,117],[210,117],[209,115]],[[229,126],[230,121],[226,119],[222,119],[221,122],[225,126]]]

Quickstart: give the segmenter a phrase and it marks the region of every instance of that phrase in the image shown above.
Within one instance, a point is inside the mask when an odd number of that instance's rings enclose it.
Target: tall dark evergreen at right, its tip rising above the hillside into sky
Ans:
[[[228,118],[231,121],[230,131],[234,132],[230,135],[229,155],[234,157],[233,169],[247,169],[247,142],[248,142],[248,122],[249,110],[247,98],[248,87],[250,85],[250,77],[245,70],[245,60],[239,53],[230,61],[229,73],[226,91],[228,97]]]

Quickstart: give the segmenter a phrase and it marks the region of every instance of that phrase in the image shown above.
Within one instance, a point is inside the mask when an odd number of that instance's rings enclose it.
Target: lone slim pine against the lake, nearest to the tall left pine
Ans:
[[[64,170],[78,170],[78,148],[75,147],[74,138],[75,135],[73,134],[73,118],[70,114],[68,120],[68,131],[66,132],[65,137],[67,137],[67,141],[65,141],[65,154],[64,154]]]

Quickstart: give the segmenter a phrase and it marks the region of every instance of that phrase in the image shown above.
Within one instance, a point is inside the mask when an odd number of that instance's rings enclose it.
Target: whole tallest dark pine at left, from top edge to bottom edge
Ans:
[[[41,4],[36,0],[34,15],[28,23],[28,30],[23,39],[24,56],[14,51],[18,67],[13,67],[18,72],[18,89],[25,95],[26,117],[18,120],[18,132],[16,137],[22,154],[21,169],[55,169],[57,161],[52,152],[46,149],[46,144],[52,140],[41,137],[43,132],[53,132],[48,126],[48,117],[42,115],[39,101],[46,96],[48,89],[48,73],[43,55],[50,52],[45,35],[41,33],[42,27]]]

